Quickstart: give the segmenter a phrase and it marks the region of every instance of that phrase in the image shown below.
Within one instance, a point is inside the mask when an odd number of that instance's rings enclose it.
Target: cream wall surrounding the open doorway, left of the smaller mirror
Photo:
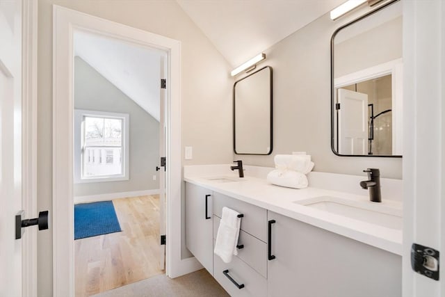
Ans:
[[[52,192],[52,4],[181,41],[182,145],[188,164],[232,161],[230,66],[175,1],[38,1],[38,209]],[[199,131],[199,133],[196,133]],[[38,296],[52,295],[52,233],[38,234]]]

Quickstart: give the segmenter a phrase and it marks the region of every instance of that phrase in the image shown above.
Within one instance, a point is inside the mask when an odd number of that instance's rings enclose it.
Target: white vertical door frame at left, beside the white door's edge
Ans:
[[[37,207],[37,52],[38,3],[22,1],[22,208],[26,218]],[[22,237],[22,295],[37,297],[37,228]]]

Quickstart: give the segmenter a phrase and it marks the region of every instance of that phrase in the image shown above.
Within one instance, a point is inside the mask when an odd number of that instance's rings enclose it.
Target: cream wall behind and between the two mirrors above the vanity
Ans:
[[[344,157],[331,151],[330,40],[339,26],[362,13],[358,10],[335,22],[327,13],[265,51],[261,66],[273,67],[273,152],[234,154],[234,159],[273,167],[275,154],[304,151],[312,155],[316,171],[364,175],[362,170],[373,167],[380,168],[382,177],[402,178],[400,158]]]

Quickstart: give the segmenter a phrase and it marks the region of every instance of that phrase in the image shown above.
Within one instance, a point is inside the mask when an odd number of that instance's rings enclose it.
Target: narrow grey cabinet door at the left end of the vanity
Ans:
[[[186,183],[186,246],[213,275],[213,193]]]

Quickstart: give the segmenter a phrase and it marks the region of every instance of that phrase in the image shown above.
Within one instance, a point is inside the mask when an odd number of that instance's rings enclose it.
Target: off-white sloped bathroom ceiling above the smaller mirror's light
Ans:
[[[177,0],[236,67],[346,0]]]

